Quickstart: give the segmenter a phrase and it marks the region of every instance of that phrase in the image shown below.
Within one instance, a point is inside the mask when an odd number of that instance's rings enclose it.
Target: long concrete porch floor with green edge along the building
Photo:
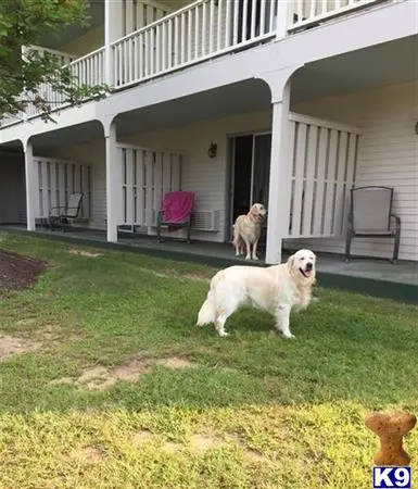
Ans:
[[[0,230],[28,233],[22,226],[0,226]],[[138,253],[147,253],[169,260],[206,263],[216,267],[232,264],[264,265],[263,252],[259,261],[245,261],[243,256],[235,256],[230,243],[193,241],[186,243],[174,239],[166,239],[159,243],[155,237],[130,235],[121,233],[117,243],[107,243],[105,231],[76,229],[62,233],[39,228],[38,237],[58,239],[79,244],[100,248],[125,249]],[[315,250],[313,250],[315,251]],[[283,250],[282,261],[291,254]],[[393,265],[387,260],[372,258],[354,258],[344,263],[342,255],[318,254],[318,285],[360,293],[389,297],[407,302],[418,302],[418,263],[400,261]]]

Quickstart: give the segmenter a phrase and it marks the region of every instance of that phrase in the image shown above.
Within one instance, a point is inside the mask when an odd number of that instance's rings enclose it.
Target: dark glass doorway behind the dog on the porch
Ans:
[[[271,134],[233,136],[230,149],[229,239],[236,218],[246,214],[253,203],[259,202],[268,208]]]

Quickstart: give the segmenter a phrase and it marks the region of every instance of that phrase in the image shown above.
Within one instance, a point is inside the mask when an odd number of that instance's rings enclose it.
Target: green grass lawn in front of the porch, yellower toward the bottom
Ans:
[[[414,305],[319,288],[294,341],[253,310],[219,338],[194,326],[214,268],[0,248],[49,263],[0,294],[0,335],[30,350],[0,362],[0,488],[370,488],[365,413],[418,413]],[[417,473],[417,428],[405,448]]]

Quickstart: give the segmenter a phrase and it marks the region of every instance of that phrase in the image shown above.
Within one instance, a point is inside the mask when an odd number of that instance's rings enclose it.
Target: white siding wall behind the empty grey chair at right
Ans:
[[[295,112],[363,128],[356,185],[394,187],[394,209],[401,216],[400,259],[418,260],[418,83],[376,87],[367,91],[297,104]],[[312,239],[286,243],[341,253],[344,239]],[[391,256],[393,240],[353,240],[353,254]]]

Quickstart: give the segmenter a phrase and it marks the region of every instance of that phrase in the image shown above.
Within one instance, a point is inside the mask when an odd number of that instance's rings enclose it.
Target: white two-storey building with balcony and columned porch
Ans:
[[[418,260],[416,1],[91,0],[91,15],[37,49],[114,91],[72,108],[45,86],[54,123],[33,108],[1,122],[0,224],[36,230],[83,191],[75,225],[154,236],[164,193],[192,190],[193,239],[228,242],[263,202],[278,263],[283,247],[342,253],[350,189],[382,185],[400,259]]]

